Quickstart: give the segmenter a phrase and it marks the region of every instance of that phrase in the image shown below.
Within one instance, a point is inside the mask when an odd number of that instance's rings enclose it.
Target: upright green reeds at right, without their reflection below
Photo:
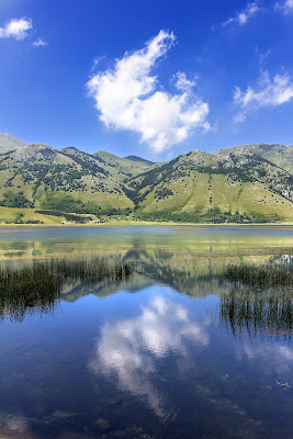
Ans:
[[[293,286],[293,267],[282,263],[228,264],[225,277],[252,288]]]

